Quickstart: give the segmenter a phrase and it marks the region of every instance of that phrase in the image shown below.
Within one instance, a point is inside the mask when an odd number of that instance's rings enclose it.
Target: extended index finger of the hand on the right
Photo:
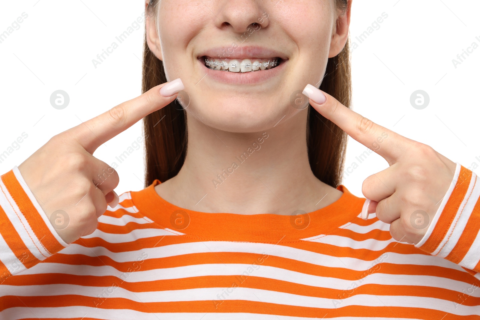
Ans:
[[[384,157],[389,165],[405,153],[412,141],[389,130],[342,105],[333,96],[307,84],[303,94],[310,98],[311,106],[331,120],[350,137]],[[322,96],[323,94],[323,96]]]

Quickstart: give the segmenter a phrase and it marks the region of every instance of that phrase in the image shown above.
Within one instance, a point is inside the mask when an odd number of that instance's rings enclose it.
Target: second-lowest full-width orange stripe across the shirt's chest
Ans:
[[[25,275],[24,285],[42,285],[42,284],[72,284],[90,286],[92,292],[98,292],[99,287],[109,288],[111,286],[120,287],[131,292],[154,292],[168,290],[188,290],[197,288],[218,288],[218,294],[222,294],[224,289],[231,287],[242,287],[251,289],[261,289],[275,291],[299,296],[312,296],[326,299],[346,299],[356,295],[375,295],[375,296],[417,296],[432,297],[462,304],[465,306],[478,306],[480,297],[465,296],[459,297],[458,291],[434,286],[425,285],[391,285],[391,284],[362,284],[362,280],[352,282],[357,287],[348,290],[332,289],[325,287],[316,287],[306,284],[296,284],[288,281],[248,276],[199,276],[180,279],[153,280],[142,282],[128,282],[127,278],[116,276],[79,276],[69,275],[65,277],[59,273],[45,274],[44,279],[39,279],[35,275]],[[30,281],[30,283],[28,283]],[[20,284],[17,284],[20,285]],[[39,299],[49,299],[48,296],[39,297]],[[1,301],[1,300],[0,300]]]

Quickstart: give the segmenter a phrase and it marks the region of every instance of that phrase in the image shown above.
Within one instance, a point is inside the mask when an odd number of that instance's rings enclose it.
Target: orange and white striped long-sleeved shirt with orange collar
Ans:
[[[480,185],[457,163],[426,235],[398,242],[365,198],[300,215],[202,213],[124,192],[58,236],[17,166],[0,181],[0,319],[480,319]]]

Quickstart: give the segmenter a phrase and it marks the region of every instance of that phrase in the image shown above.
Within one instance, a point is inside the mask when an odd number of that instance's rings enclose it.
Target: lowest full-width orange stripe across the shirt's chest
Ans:
[[[381,298],[379,298],[381,299]],[[28,308],[55,308],[66,306],[97,307],[103,309],[132,309],[145,313],[179,313],[179,312],[247,312],[252,314],[274,314],[279,316],[305,317],[305,318],[323,318],[330,319],[342,316],[351,317],[391,317],[406,319],[462,319],[479,320],[479,316],[458,316],[449,312],[438,311],[425,308],[408,307],[365,307],[365,306],[346,306],[338,308],[313,308],[281,305],[276,303],[267,303],[262,301],[245,300],[225,300],[221,301],[180,301],[180,302],[136,302],[125,298],[97,298],[97,302],[92,305],[92,297],[78,295],[49,296],[46,301],[39,300],[37,297],[16,297],[6,296],[4,305],[10,308],[28,307]],[[217,308],[215,308],[217,306]]]

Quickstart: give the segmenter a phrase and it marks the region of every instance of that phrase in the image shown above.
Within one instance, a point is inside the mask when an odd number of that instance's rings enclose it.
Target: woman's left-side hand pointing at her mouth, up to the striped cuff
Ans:
[[[161,88],[161,89],[160,89]],[[76,127],[53,136],[18,169],[57,230],[72,243],[93,233],[97,218],[118,204],[117,172],[95,150],[148,114],[172,102],[180,79],[162,83]],[[166,96],[164,96],[166,95]]]

